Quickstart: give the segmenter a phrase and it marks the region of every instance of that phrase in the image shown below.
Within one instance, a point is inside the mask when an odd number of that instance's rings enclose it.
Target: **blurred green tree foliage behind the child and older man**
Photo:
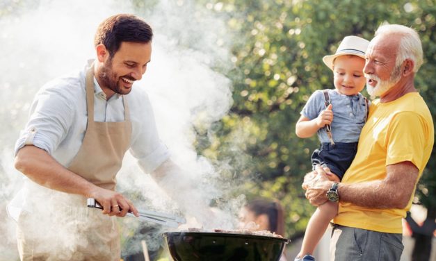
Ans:
[[[201,152],[218,160],[230,158],[229,164],[247,180],[245,191],[249,197],[280,199],[287,213],[289,237],[305,230],[314,211],[300,185],[311,169],[310,154],[318,146],[316,137],[296,137],[295,124],[314,90],[333,88],[332,72],[321,58],[334,53],[344,36],[371,40],[383,22],[417,29],[425,63],[417,74],[416,85],[435,115],[433,0],[199,2],[227,17],[234,34],[235,65],[227,74],[234,83],[234,106],[217,124],[214,141]],[[432,157],[416,200],[433,209],[435,167]]]

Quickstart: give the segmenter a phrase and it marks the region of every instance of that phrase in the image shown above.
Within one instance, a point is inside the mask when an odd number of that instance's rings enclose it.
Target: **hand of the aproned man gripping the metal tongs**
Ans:
[[[105,190],[102,187],[96,186],[90,197],[94,198],[102,205],[103,214],[125,217],[127,212],[132,212],[136,217],[139,217],[138,210],[135,208],[134,204],[118,192]]]

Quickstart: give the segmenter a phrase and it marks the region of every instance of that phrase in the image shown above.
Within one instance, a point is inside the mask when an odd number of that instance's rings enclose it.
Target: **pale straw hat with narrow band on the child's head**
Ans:
[[[365,58],[365,51],[368,48],[369,41],[354,35],[344,37],[344,40],[339,44],[336,53],[332,56],[324,56],[323,62],[327,67],[333,69],[333,61],[338,56],[353,55]]]

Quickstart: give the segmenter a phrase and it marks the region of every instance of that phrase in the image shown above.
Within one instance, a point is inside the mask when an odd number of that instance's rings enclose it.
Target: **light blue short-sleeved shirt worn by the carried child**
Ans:
[[[332,136],[334,142],[358,142],[360,131],[366,120],[366,101],[362,94],[344,95],[337,90],[328,90],[330,103],[332,103],[333,122]],[[325,110],[323,91],[317,90],[302,108],[301,115],[308,119],[315,119]],[[318,139],[321,143],[330,142],[324,128],[318,130]]]

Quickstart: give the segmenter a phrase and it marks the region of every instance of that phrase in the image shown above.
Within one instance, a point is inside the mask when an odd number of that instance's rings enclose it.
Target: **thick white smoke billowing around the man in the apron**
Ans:
[[[136,1],[138,2],[138,1]],[[143,17],[154,29],[152,62],[136,87],[144,88],[154,107],[161,139],[172,159],[197,182],[204,199],[225,192],[216,165],[199,157],[193,147],[195,129],[207,130],[232,106],[231,83],[215,67],[231,66],[225,24],[193,1],[161,1],[140,10],[129,1],[7,1],[0,4],[0,260],[17,258],[15,222],[6,216],[6,204],[19,190],[23,175],[13,167],[13,146],[24,128],[35,92],[51,78],[80,69],[94,57],[93,36],[103,19],[120,12]],[[143,174],[127,155],[118,175],[118,190],[132,196],[137,208],[176,212],[150,176]],[[241,197],[221,203],[232,212]],[[227,216],[228,217],[228,216]],[[132,236],[140,229],[136,219],[122,219],[131,240],[146,237],[156,249],[161,230]],[[150,225],[150,224],[146,224]],[[150,226],[147,228],[150,229]],[[129,239],[124,239],[129,241]],[[123,253],[139,252],[137,242],[124,242]]]

